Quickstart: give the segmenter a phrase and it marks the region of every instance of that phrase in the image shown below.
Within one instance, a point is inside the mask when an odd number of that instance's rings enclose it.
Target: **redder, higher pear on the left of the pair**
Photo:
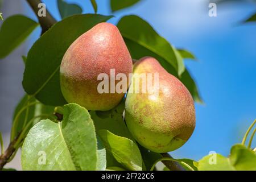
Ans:
[[[105,74],[110,82],[118,73],[128,77],[132,72],[133,61],[118,28],[99,23],[77,38],[65,53],[60,65],[61,92],[67,102],[88,110],[110,110],[118,105],[125,92],[110,92],[110,85],[105,85],[109,92],[99,92],[98,85],[104,79],[99,80],[98,76]],[[114,80],[113,86],[116,84]]]

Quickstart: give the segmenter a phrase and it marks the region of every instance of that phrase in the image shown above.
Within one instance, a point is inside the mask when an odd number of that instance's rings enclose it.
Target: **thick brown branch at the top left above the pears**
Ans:
[[[42,3],[40,0],[27,0],[27,3],[30,5],[32,10],[34,11],[35,15],[38,17],[38,21],[40,23],[40,26],[42,27],[42,34],[46,32],[53,24],[55,24],[57,21],[53,16],[49,13],[49,11],[46,9],[46,16],[39,16],[38,15],[38,5],[39,3]],[[42,35],[41,34],[41,35]]]

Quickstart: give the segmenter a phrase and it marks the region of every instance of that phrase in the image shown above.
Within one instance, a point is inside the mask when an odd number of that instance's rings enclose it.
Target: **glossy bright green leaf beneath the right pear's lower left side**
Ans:
[[[108,130],[98,131],[106,150],[112,153],[114,158],[129,170],[141,171],[141,152],[135,142],[110,133]]]

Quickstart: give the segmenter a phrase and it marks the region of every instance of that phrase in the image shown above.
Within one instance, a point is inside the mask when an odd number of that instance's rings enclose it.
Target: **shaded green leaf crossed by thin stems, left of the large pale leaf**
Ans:
[[[16,124],[15,126],[13,125],[11,139],[14,139],[16,135],[18,135],[18,133],[23,129],[24,126],[26,126],[26,124],[31,119],[41,116],[39,118],[34,119],[34,122],[32,122],[32,125],[30,127],[35,125],[35,123],[39,122],[41,119],[47,119],[48,115],[51,115],[53,117],[54,107],[46,106],[46,105],[40,104],[39,102],[38,104],[27,107],[27,109],[25,110],[23,109],[27,105],[30,105],[34,102],[36,102],[35,97],[30,97],[27,94],[24,97],[22,97],[22,99],[19,101],[19,104],[16,106],[14,110],[13,122],[16,122]],[[30,129],[30,127],[28,129]]]

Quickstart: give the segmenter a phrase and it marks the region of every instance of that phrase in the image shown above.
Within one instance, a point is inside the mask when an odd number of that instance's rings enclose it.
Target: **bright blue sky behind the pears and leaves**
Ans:
[[[45,0],[49,11],[60,20],[56,1]],[[76,2],[84,13],[93,13],[90,1]],[[109,1],[98,0],[98,13],[109,15]],[[27,15],[36,19],[27,5]],[[136,14],[178,48],[192,51],[198,61],[185,60],[195,78],[204,105],[196,104],[196,129],[176,158],[200,159],[209,151],[229,154],[241,142],[256,118],[256,23],[239,24],[256,11],[256,4],[238,3],[217,6],[217,17],[208,16],[204,0],[144,0],[115,13],[111,23],[123,15]],[[32,35],[39,37],[40,30]],[[31,44],[33,43],[31,41]],[[254,147],[256,139],[254,140]]]

